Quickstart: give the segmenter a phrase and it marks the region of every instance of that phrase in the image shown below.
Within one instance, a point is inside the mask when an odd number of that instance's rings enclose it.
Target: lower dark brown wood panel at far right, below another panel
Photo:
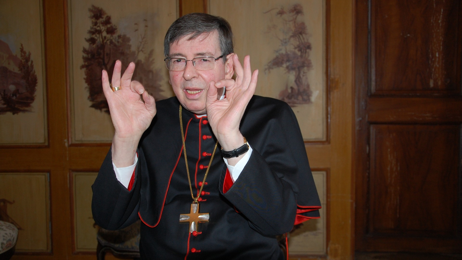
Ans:
[[[371,125],[368,234],[460,234],[460,125]]]

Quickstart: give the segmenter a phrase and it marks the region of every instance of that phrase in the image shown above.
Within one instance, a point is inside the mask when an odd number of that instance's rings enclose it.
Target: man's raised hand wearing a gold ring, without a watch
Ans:
[[[112,124],[116,130],[112,139],[112,161],[116,167],[128,167],[134,162],[141,135],[156,115],[156,103],[140,82],[132,81],[135,70],[133,62],[128,65],[122,78],[121,70],[122,63],[116,61],[111,83],[112,87],[120,86],[119,90],[112,91],[105,70],[102,80],[104,96],[108,101]]]

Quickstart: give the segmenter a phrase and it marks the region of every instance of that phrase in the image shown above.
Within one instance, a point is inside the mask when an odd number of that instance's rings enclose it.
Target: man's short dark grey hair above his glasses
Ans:
[[[224,56],[223,62],[225,62],[226,56],[234,52],[231,25],[219,16],[200,12],[193,12],[182,16],[170,25],[164,39],[165,57],[168,57],[170,53],[170,44],[177,42],[182,37],[191,34],[191,37],[188,38],[189,41],[204,33],[208,34],[215,30],[218,32],[221,55]]]

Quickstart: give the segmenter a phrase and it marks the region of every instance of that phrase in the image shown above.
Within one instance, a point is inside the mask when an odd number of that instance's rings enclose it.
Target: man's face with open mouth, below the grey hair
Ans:
[[[189,37],[190,35],[187,35],[180,38],[178,42],[171,43],[169,57],[192,60],[204,56],[215,58],[221,56],[217,31],[208,35],[202,34],[188,41]],[[229,75],[230,72],[226,74],[226,66],[229,64],[223,63],[222,59],[215,61],[215,68],[211,70],[197,70],[192,61],[188,61],[183,71],[170,71],[170,84],[183,107],[198,115],[207,113],[205,103],[209,82],[212,80],[217,82],[232,76]]]

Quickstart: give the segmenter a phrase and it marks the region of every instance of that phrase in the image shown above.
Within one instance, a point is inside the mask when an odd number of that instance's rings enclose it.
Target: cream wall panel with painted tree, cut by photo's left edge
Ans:
[[[0,2],[0,145],[48,144],[43,1]]]

